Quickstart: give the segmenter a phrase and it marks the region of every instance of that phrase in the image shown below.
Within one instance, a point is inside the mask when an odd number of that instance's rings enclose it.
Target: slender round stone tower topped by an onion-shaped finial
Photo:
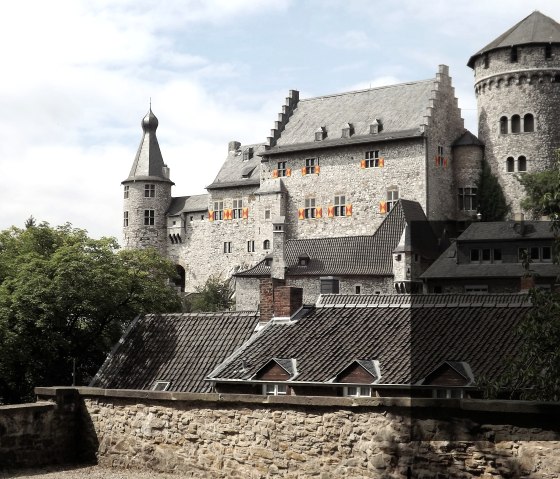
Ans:
[[[171,202],[169,168],[156,138],[158,119],[148,111],[142,119],[143,136],[124,188],[123,246],[154,247],[162,254],[167,245],[166,211]]]

